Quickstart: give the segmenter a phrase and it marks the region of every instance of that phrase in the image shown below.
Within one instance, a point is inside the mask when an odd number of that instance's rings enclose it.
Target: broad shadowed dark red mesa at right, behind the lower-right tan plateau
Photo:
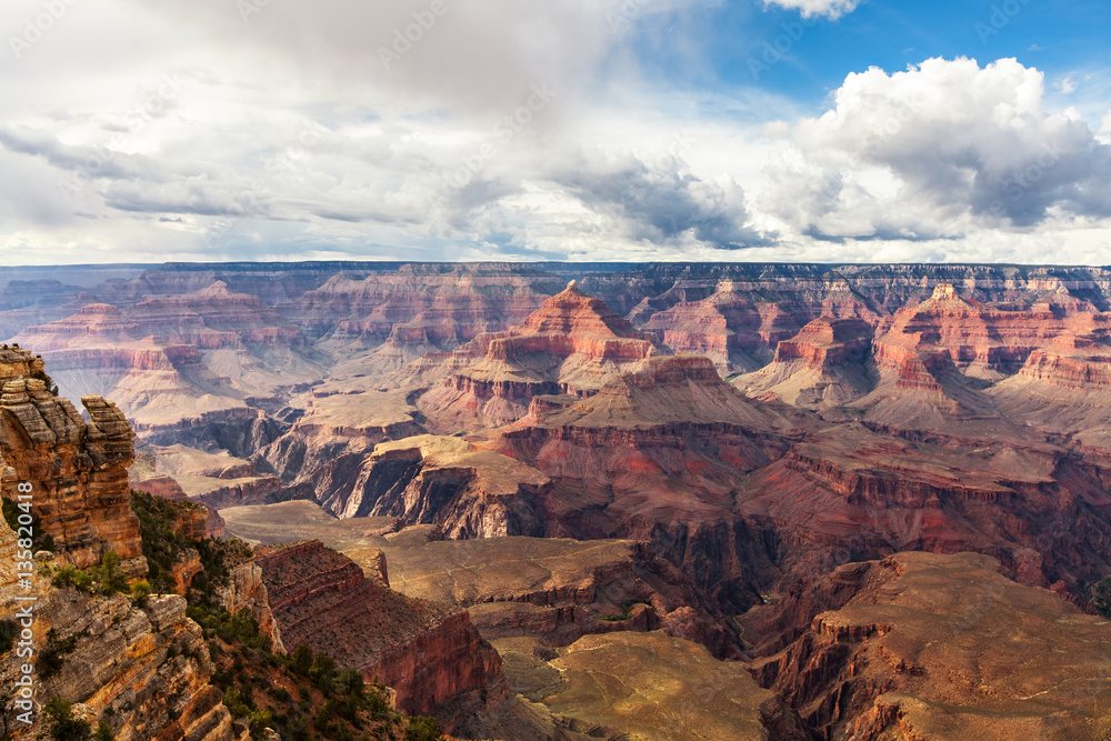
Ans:
[[[1023,583],[1078,590],[1111,568],[1090,555],[1111,542],[1100,480],[1044,443],[948,448],[840,424],[753,474],[737,508],[782,539],[784,589],[845,557],[925,550],[989,553]]]

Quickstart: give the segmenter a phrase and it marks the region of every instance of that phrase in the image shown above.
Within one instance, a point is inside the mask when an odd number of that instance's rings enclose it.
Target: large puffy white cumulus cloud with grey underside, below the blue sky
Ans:
[[[850,74],[831,110],[790,129],[760,203],[824,238],[1111,217],[1111,148],[1043,94],[1042,73],[1013,59]]]

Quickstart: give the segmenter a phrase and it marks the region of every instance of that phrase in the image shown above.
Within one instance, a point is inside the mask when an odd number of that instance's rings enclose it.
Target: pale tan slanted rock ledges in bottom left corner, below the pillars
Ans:
[[[57,589],[36,574],[31,588],[16,581],[16,534],[0,521],[0,619],[20,620],[31,605],[30,643],[38,663],[38,702],[59,697],[93,723],[106,722],[120,741],[248,741],[232,728],[221,693],[208,683],[212,674],[201,629],[186,617],[181,597],[152,597],[137,607],[122,595],[96,597],[72,588]],[[32,597],[34,602],[20,601]],[[61,647],[61,648],[60,648]],[[43,651],[56,650],[48,672]],[[16,651],[0,657],[0,681],[16,687],[20,664]],[[14,738],[30,738],[9,720]]]

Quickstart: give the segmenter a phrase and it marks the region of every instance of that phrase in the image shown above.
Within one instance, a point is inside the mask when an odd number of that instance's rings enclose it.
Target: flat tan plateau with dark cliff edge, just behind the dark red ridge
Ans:
[[[384,547],[398,591],[464,607],[483,638],[569,645],[591,633],[664,630],[735,657],[737,641],[689,580],[645,543],[493,538]],[[348,554],[372,573],[379,550]]]

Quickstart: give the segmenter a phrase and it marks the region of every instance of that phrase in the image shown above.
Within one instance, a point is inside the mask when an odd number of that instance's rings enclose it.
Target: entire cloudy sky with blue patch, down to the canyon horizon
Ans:
[[[4,0],[0,266],[1111,264],[1064,0]]]

